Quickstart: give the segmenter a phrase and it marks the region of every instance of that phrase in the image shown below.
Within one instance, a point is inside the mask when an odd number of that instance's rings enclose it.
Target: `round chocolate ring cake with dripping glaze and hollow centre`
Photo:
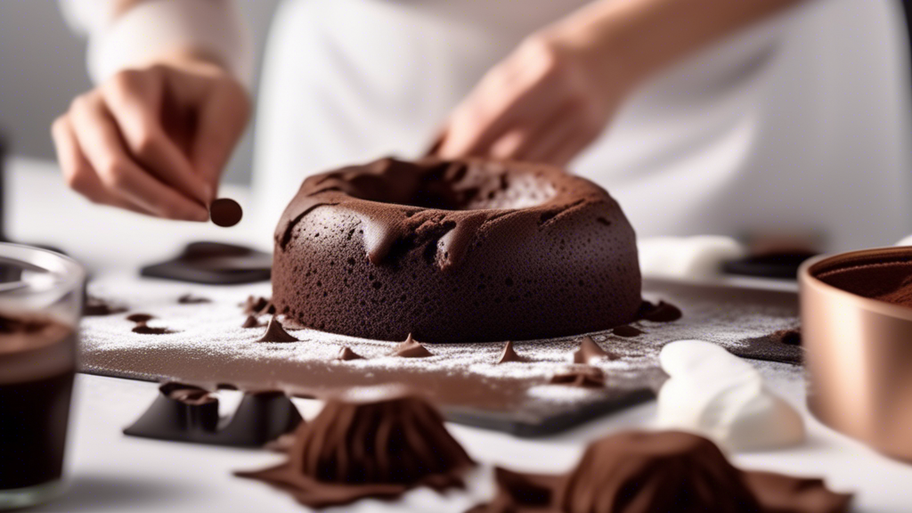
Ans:
[[[378,340],[528,340],[627,324],[636,237],[620,206],[543,164],[383,159],[312,176],[275,231],[273,302]]]

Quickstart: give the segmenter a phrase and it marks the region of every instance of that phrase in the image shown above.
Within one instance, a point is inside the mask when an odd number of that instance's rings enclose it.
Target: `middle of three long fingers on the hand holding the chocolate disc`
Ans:
[[[79,97],[70,112],[79,147],[110,193],[161,217],[188,221],[209,218],[202,204],[161,183],[133,162],[99,95]]]

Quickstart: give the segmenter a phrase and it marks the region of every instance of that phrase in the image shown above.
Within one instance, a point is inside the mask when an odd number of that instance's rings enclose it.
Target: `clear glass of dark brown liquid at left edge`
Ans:
[[[67,257],[0,244],[0,509],[60,490],[84,281]]]

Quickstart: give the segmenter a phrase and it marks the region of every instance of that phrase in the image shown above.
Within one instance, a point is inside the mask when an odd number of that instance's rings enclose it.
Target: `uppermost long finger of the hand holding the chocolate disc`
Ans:
[[[148,68],[122,71],[106,81],[100,91],[137,163],[179,193],[209,204],[209,185],[194,172],[190,160],[162,127],[163,85],[161,68]]]

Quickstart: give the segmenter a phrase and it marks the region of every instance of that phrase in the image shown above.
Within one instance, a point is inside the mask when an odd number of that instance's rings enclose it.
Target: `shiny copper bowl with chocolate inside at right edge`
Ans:
[[[912,462],[912,308],[820,279],[875,263],[912,263],[912,247],[816,257],[799,270],[807,401],[824,424]]]

